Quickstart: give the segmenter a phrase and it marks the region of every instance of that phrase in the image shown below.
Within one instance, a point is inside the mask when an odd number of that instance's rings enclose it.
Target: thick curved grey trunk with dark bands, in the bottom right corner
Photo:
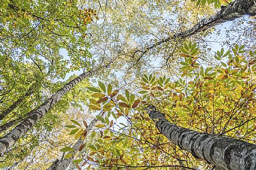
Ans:
[[[181,149],[225,170],[255,170],[256,145],[243,140],[200,133],[170,123],[155,106],[145,108],[160,133]]]

